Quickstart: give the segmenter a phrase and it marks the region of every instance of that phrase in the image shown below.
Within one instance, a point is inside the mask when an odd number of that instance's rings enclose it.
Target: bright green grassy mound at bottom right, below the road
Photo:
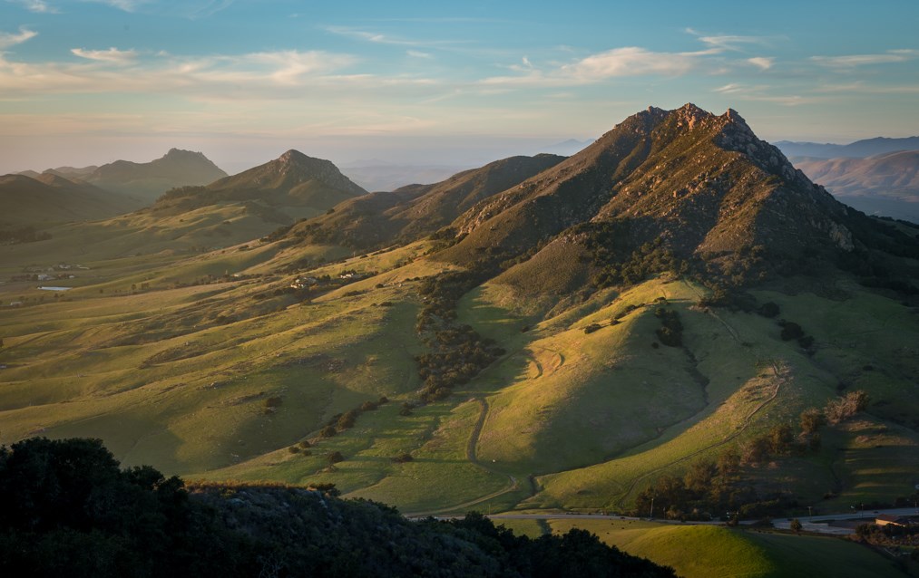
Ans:
[[[890,559],[842,539],[627,520],[551,520],[550,526],[553,532],[584,528],[686,578],[903,575]]]

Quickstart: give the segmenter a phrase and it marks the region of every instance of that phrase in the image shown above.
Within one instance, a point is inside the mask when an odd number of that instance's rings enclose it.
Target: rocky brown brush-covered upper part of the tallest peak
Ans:
[[[576,225],[617,222],[632,246],[649,241],[684,257],[735,261],[762,247],[795,259],[854,248],[862,221],[757,139],[736,112],[650,108],[581,153],[460,217],[445,257],[529,250]]]

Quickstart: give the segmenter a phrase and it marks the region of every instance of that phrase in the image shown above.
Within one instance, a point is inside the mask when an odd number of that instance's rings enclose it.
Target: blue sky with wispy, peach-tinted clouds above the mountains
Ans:
[[[0,174],[472,166],[687,102],[770,141],[913,136],[917,29],[916,0],[0,0]]]

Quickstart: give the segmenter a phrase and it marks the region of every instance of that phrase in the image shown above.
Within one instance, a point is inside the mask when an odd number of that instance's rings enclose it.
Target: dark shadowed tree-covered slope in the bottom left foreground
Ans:
[[[584,530],[528,539],[485,517],[410,522],[334,487],[186,487],[94,439],[0,449],[0,575],[675,576]]]

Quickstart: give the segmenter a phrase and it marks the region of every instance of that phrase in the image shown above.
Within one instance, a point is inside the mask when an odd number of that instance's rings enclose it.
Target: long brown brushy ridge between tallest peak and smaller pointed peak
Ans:
[[[563,161],[539,154],[511,157],[459,172],[435,184],[412,184],[391,193],[374,193],[335,206],[291,230],[309,242],[335,243],[353,249],[406,242],[446,227],[482,199],[505,191]]]

